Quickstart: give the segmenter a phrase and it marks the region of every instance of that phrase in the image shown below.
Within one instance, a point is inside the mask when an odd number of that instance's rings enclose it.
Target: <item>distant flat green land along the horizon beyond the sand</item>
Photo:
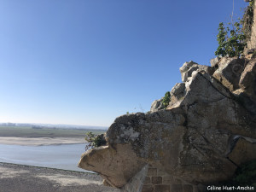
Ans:
[[[100,130],[78,130],[59,128],[33,128],[32,126],[0,126],[0,137],[83,137],[85,133],[92,131],[94,134],[102,134]]]

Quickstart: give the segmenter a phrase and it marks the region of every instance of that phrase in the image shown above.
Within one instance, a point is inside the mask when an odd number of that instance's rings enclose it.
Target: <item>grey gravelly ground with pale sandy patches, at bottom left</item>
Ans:
[[[119,192],[93,173],[0,163],[0,192]]]

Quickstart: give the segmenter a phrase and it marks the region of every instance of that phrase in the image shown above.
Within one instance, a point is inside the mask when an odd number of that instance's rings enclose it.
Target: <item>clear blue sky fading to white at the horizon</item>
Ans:
[[[243,0],[235,0],[236,17]],[[109,126],[210,65],[233,0],[0,0],[0,122]]]

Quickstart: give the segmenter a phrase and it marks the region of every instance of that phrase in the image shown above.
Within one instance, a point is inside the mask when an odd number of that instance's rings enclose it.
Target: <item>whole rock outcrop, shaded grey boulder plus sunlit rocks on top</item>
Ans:
[[[241,95],[255,101],[255,61],[222,58],[214,67],[187,62],[180,71],[183,83],[172,88],[166,110],[115,119],[108,147],[86,152],[79,166],[120,188],[147,164],[189,183],[209,184],[255,160],[255,115],[238,102]]]

